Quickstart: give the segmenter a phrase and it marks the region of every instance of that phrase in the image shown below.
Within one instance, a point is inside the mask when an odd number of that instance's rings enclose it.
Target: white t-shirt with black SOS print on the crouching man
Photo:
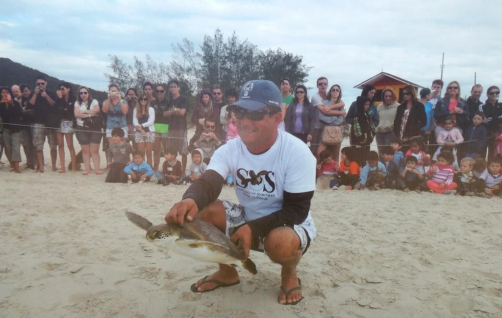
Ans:
[[[301,193],[315,190],[316,159],[300,139],[278,130],[274,145],[261,155],[250,153],[240,137],[216,149],[207,169],[235,180],[235,194],[247,220],[280,210],[283,191]],[[311,212],[301,224],[315,238]]]

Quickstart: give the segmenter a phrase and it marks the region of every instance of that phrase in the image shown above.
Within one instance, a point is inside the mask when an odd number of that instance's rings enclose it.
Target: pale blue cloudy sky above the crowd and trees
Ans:
[[[224,37],[235,31],[263,51],[303,56],[312,67],[306,86],[325,76],[341,85],[346,104],[360,94],[353,86],[382,70],[430,87],[440,77],[443,52],[445,86],[457,80],[462,96],[469,96],[474,72],[482,100],[488,86],[502,85],[502,1],[3,3],[0,57],[103,91],[108,55],[132,63],[149,54],[167,64],[172,44],[187,38],[198,48],[216,29]]]

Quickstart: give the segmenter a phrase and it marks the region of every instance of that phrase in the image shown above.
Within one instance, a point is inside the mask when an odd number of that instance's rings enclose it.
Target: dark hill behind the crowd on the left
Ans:
[[[35,86],[35,77],[37,75],[43,75],[47,79],[47,85],[52,91],[56,91],[59,84],[64,82],[64,80],[57,79],[44,72],[40,72],[39,70],[16,63],[11,59],[0,58],[0,87],[12,87],[13,85],[27,84],[33,90],[33,87]],[[72,91],[76,94],[80,85],[74,83],[70,84],[72,85]],[[97,101],[103,101],[106,99],[105,92],[96,91],[92,88],[90,88],[90,91],[93,98]]]

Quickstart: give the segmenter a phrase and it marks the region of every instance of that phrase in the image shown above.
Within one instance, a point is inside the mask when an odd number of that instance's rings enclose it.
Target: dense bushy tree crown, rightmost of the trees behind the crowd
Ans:
[[[277,51],[269,49],[260,54],[260,76],[276,84],[287,77],[290,79],[292,89],[294,89],[307,81],[308,72],[312,69],[312,67],[302,64],[302,60],[301,55],[293,55],[293,53],[285,52],[280,48]]]

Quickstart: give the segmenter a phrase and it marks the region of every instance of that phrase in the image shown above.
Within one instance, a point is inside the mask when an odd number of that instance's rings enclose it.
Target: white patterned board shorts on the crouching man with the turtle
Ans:
[[[225,215],[226,215],[226,235],[228,237],[232,236],[237,229],[244,225],[247,220],[244,215],[244,208],[240,204],[235,204],[233,202],[227,201],[227,200],[221,200],[221,203],[223,203],[223,208],[225,209]],[[310,246],[310,236],[307,233],[307,230],[303,228],[301,225],[293,225],[291,227],[295,233],[298,235],[300,238],[300,249],[302,250],[302,255],[305,254],[307,249]],[[252,250],[256,250],[259,252],[264,252],[267,254],[267,251],[265,251],[265,237],[253,237],[253,243],[251,245]]]

